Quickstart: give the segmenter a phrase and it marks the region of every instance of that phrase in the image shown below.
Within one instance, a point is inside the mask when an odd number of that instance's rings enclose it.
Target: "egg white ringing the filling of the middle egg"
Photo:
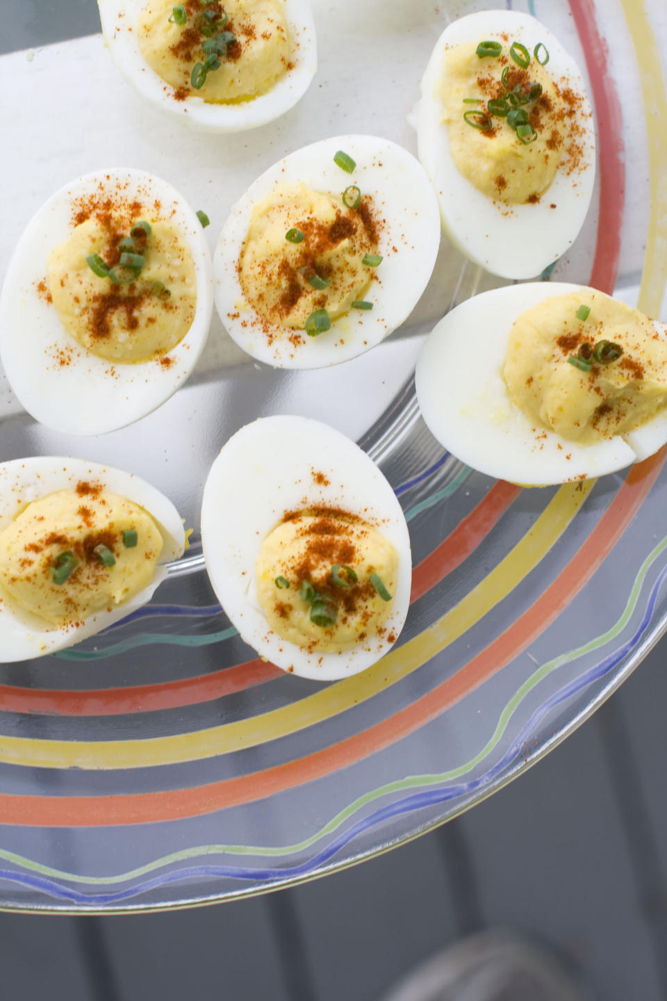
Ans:
[[[356,161],[350,174],[334,162],[343,150]],[[316,337],[304,331],[294,346],[276,324],[269,344],[264,320],[243,305],[237,264],[254,206],[280,184],[303,181],[315,191],[340,194],[356,184],[382,214],[383,260],[365,297],[371,310],[350,309]],[[341,135],[299,149],[270,167],[233,206],[213,257],[215,304],[236,343],[260,361],[282,368],[319,368],[369,350],[407,318],[431,277],[440,244],[438,206],[419,162],[388,139]]]

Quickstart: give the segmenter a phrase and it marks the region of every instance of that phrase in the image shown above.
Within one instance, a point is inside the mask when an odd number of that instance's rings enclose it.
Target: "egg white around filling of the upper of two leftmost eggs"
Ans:
[[[194,264],[196,302],[187,333],[170,350],[133,363],[109,361],[65,328],[47,285],[51,252],[78,216],[109,203],[134,205],[136,215],[169,222]],[[104,287],[113,290],[111,282]],[[150,413],[192,372],[213,310],[211,255],[202,225],[183,197],[152,174],[113,168],[87,174],[57,191],[18,242],[0,294],[0,356],[23,406],[48,427],[100,434]]]

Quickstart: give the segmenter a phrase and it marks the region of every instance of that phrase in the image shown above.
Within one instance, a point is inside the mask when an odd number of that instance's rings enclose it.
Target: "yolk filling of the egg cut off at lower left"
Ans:
[[[0,533],[0,586],[21,609],[61,628],[143,591],[162,545],[143,508],[80,482],[29,504]]]

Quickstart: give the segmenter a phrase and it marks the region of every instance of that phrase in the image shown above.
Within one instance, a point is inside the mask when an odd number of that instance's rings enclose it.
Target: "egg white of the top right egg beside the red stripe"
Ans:
[[[506,43],[499,39],[509,35]],[[538,42],[549,50],[545,69],[556,82],[566,77],[583,98],[581,167],[570,177],[559,168],[536,204],[506,205],[479,191],[457,169],[449,146],[447,125],[440,121],[442,105],[435,96],[445,49],[462,42],[498,38],[503,48],[522,42],[531,53]],[[595,183],[595,128],[582,75],[558,39],[529,14],[485,10],[452,22],[438,39],[421,84],[418,109],[419,159],[438,196],[442,225],[451,242],[487,271],[504,278],[531,278],[556,261],[581,229]],[[461,112],[463,113],[463,111]],[[556,208],[550,208],[550,205]]]

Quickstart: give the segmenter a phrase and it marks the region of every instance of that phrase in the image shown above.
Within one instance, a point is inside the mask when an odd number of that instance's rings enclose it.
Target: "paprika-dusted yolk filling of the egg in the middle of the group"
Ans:
[[[303,234],[290,242],[290,230]],[[370,199],[347,208],[341,195],[305,184],[280,185],[255,205],[238,264],[243,294],[270,324],[303,329],[316,309],[334,319],[362,299],[377,251]]]

